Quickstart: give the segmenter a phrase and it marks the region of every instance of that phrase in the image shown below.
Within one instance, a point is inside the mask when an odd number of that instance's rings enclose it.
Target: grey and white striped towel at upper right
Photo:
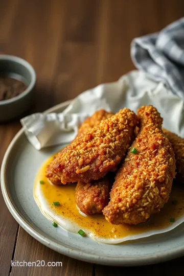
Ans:
[[[131,58],[136,68],[184,100],[184,17],[158,33],[134,38]]]

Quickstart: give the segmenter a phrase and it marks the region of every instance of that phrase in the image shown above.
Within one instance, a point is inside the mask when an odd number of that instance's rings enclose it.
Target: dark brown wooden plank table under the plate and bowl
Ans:
[[[1,0],[0,52],[27,59],[37,73],[36,104],[43,111],[134,68],[130,42],[183,16],[183,0]],[[0,161],[19,120],[0,125]],[[0,275],[183,275],[180,258],[152,266],[93,265],[54,252],[29,236],[0,194]],[[60,267],[11,267],[11,260],[62,261]]]

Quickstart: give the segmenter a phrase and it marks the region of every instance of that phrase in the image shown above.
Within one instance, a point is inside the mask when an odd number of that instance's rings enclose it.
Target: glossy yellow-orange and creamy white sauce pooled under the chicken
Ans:
[[[82,229],[87,236],[100,242],[120,243],[128,240],[129,236],[141,237],[144,233],[165,229],[173,224],[170,219],[174,218],[177,221],[184,214],[184,189],[174,185],[168,203],[158,214],[153,215],[148,222],[143,224],[112,225],[105,220],[103,215],[81,214],[75,203],[76,185],[54,186],[45,177],[45,168],[52,158],[53,156],[40,167],[37,173],[34,197],[41,212],[67,231],[77,233],[79,229]],[[40,184],[40,180],[44,183]],[[54,205],[54,201],[59,201],[60,205]]]

